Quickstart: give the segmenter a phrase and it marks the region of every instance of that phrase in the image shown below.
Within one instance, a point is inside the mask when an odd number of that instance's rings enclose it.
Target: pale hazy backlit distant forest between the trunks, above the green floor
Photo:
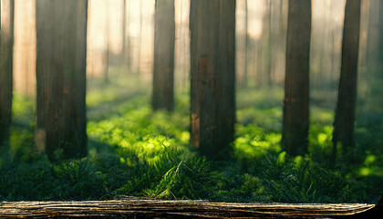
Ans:
[[[176,86],[188,89],[190,1],[175,0],[174,4]],[[345,0],[312,2],[312,89],[337,88],[345,4]],[[88,1],[88,76],[102,78],[106,68],[123,67],[151,81],[154,6],[151,0]],[[284,85],[287,6],[286,1],[237,1],[236,77],[239,85],[246,80],[252,87],[268,86],[268,74],[274,85]],[[15,10],[15,89],[33,96],[36,92],[36,3],[16,1]],[[362,1],[358,63],[361,98],[367,92],[367,68],[378,61],[378,10],[378,1]]]

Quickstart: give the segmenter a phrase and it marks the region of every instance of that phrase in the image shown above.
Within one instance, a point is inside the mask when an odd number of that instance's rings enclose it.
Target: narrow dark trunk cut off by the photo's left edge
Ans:
[[[14,0],[0,0],[0,145],[9,140],[12,121]]]

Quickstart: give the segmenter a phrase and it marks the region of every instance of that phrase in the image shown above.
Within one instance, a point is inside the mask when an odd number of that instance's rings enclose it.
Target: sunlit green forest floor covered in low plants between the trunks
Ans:
[[[309,152],[289,158],[280,146],[283,89],[240,89],[233,150],[212,162],[190,147],[186,89],[176,89],[174,113],[153,112],[150,85],[117,76],[88,79],[88,157],[80,160],[50,163],[37,152],[34,100],[15,94],[0,201],[377,203],[383,193],[383,114],[367,103],[358,103],[354,151],[332,163],[334,93],[312,92]]]

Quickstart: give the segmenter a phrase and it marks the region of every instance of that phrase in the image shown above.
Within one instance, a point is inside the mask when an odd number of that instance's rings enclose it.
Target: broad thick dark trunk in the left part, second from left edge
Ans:
[[[36,140],[51,161],[87,155],[87,0],[36,1]]]

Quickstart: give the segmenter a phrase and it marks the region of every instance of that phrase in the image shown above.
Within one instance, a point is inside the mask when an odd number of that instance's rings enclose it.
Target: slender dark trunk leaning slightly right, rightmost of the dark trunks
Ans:
[[[342,41],[342,62],[334,121],[334,154],[341,143],[345,152],[354,146],[357,102],[357,56],[359,48],[360,0],[347,0]]]

